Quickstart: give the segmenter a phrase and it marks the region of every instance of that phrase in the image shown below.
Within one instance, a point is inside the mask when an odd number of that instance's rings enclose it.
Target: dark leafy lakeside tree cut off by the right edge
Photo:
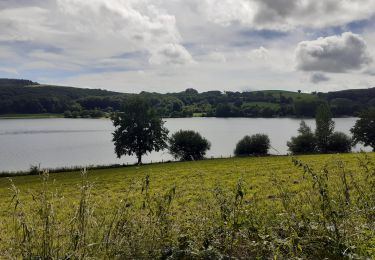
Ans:
[[[362,112],[350,131],[353,134],[354,143],[371,146],[375,151],[375,108]]]

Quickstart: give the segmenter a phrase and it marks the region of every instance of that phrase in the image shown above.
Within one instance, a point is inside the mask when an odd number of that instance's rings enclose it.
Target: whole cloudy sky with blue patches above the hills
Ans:
[[[374,0],[0,0],[0,77],[121,92],[375,86]]]

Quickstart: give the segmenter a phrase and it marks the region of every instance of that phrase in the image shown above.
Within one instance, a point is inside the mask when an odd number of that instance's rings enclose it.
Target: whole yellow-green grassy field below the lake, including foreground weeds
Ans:
[[[0,178],[0,258],[375,257],[375,153]]]

